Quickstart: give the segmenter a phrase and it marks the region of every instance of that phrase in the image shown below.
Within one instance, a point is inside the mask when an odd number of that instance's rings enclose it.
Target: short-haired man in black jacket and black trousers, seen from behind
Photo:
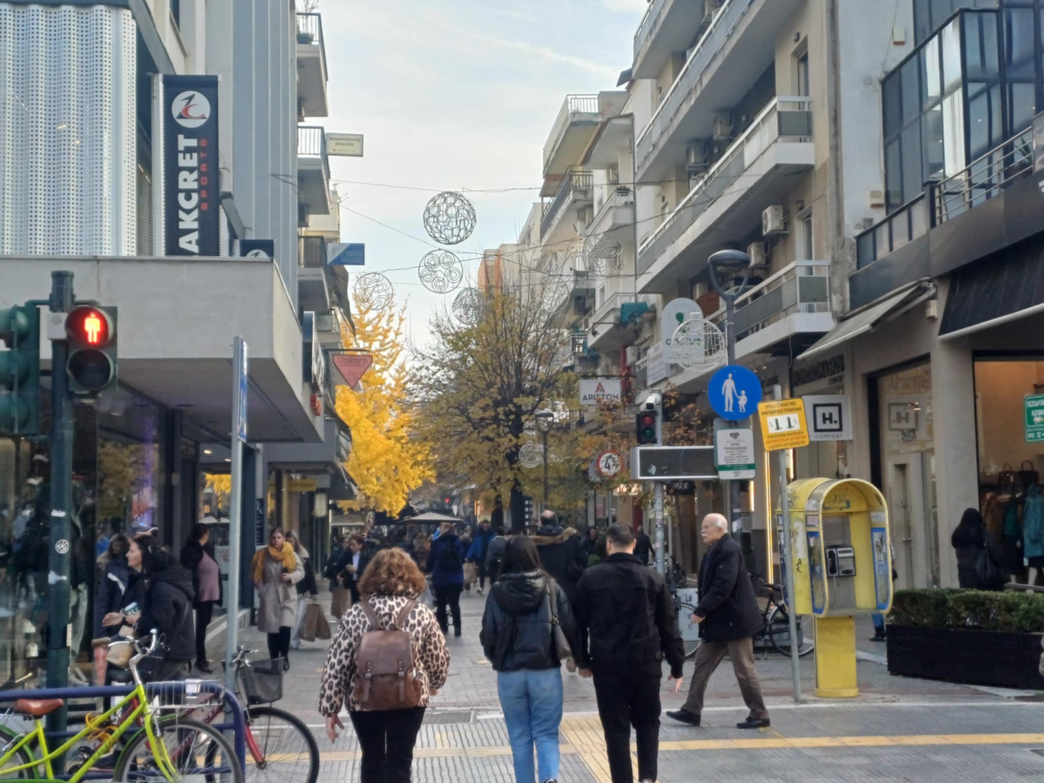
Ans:
[[[632,726],[638,740],[639,780],[657,779],[662,663],[666,658],[677,691],[685,660],[667,585],[634,551],[631,525],[610,525],[606,561],[584,573],[573,600],[582,638],[580,673],[594,674],[613,783],[634,781]]]

